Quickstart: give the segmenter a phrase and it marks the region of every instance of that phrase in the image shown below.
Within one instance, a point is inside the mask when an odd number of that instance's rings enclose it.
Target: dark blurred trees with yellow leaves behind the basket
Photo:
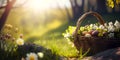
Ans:
[[[70,21],[77,20],[81,14],[90,10],[99,13],[108,13],[107,8],[112,7],[114,12],[120,12],[120,0],[70,0],[70,3],[73,14],[72,19],[68,16]],[[67,8],[66,11],[68,11]]]

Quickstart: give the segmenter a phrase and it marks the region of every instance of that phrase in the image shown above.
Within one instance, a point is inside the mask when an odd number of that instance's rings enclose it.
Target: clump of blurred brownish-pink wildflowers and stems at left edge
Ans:
[[[11,24],[6,24],[0,32],[0,57],[2,60],[19,58],[16,44],[18,34],[18,28]]]

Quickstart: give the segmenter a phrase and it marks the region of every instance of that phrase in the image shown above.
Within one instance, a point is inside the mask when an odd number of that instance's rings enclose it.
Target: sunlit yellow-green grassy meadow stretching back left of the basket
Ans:
[[[60,56],[76,56],[77,50],[75,47],[68,44],[68,41],[62,36],[62,33],[68,27],[66,23],[67,18],[65,17],[66,13],[63,14],[60,10],[55,10],[55,12],[52,11],[50,14],[47,14],[50,15],[50,17],[47,16],[46,18],[44,13],[36,14],[35,17],[33,16],[34,14],[26,10],[20,11],[19,9],[13,9],[6,23],[19,27],[19,30],[23,32],[23,38],[26,42],[32,42],[49,48],[53,53]],[[46,20],[45,23],[42,22],[42,20]]]

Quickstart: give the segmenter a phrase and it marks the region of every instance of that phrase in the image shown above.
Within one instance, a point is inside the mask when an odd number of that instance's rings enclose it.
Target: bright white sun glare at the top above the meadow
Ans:
[[[61,7],[64,7],[65,5],[70,6],[69,0],[28,0],[24,7],[38,12],[57,8],[58,4]]]

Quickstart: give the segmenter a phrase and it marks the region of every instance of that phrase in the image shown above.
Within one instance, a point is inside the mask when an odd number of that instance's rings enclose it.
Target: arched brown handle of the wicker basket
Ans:
[[[97,18],[97,20],[99,21],[99,23],[100,23],[101,25],[104,25],[104,20],[103,20],[102,16],[101,16],[100,14],[98,14],[97,12],[90,11],[90,12],[87,12],[87,13],[83,14],[83,15],[78,19],[77,25],[76,25],[76,30],[75,30],[75,32],[73,33],[73,35],[77,35],[77,32],[78,32],[78,30],[80,29],[80,25],[81,25],[82,21],[83,21],[83,20],[85,19],[85,17],[88,16],[88,15],[93,15],[93,16],[95,16],[95,17]]]

